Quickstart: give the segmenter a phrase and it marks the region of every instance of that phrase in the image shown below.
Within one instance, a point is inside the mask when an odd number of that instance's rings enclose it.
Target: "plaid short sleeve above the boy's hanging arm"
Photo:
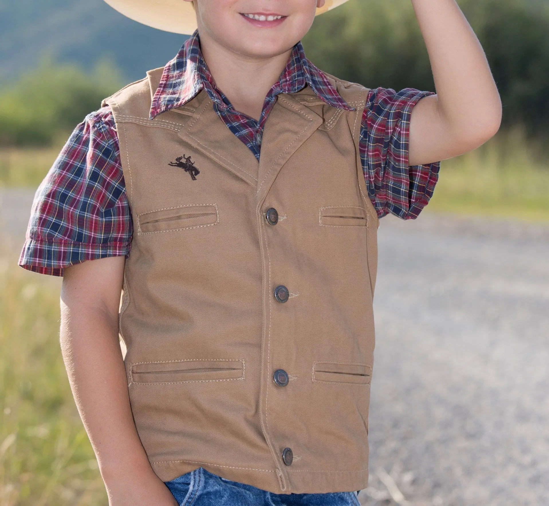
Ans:
[[[127,255],[133,226],[113,114],[86,116],[36,191],[19,265],[62,276],[70,265]]]

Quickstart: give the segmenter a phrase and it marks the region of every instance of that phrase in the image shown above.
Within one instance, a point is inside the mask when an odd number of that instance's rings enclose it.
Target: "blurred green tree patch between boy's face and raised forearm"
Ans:
[[[316,18],[303,43],[313,63],[343,79],[371,88],[434,87],[409,1],[351,0]]]

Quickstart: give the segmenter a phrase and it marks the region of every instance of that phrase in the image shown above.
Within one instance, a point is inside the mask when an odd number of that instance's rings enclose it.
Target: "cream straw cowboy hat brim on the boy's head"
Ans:
[[[338,7],[347,0],[326,0],[316,15]],[[191,2],[183,0],[105,0],[111,7],[134,21],[175,34],[192,34],[197,16]]]

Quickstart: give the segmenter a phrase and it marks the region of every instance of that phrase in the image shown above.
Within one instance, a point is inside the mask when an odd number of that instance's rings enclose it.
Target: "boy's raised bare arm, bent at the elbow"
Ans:
[[[410,165],[479,147],[501,123],[501,101],[483,48],[455,0],[412,0],[435,80],[410,123]]]

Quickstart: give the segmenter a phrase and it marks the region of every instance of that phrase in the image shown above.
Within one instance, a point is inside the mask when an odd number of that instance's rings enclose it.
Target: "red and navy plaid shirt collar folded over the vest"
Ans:
[[[323,102],[338,109],[354,110],[341,98],[326,75],[305,57],[303,46],[298,42],[280,79],[273,85],[270,93],[296,93],[305,85],[309,85]],[[220,109],[230,107],[225,96],[217,89],[202,57],[198,31],[195,31],[185,41],[176,57],[164,67],[160,85],[150,107],[150,119],[167,110],[181,107],[197,96],[202,89],[206,90]]]

